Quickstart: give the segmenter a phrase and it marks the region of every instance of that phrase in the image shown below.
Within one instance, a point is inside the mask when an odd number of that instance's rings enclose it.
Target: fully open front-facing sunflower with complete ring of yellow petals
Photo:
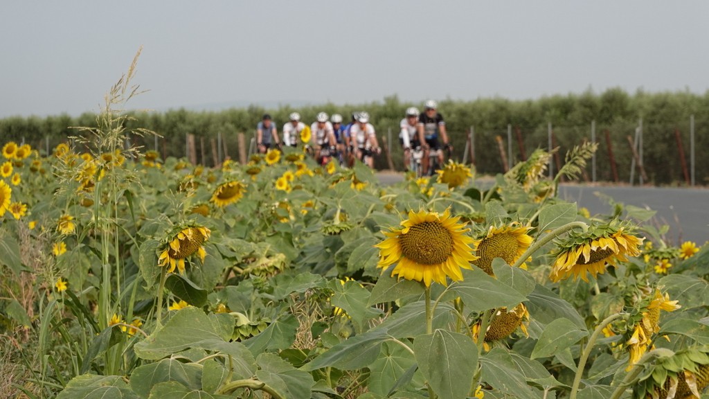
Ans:
[[[381,256],[376,267],[386,269],[396,263],[392,277],[423,281],[426,287],[432,281],[446,285],[447,277],[462,280],[460,268],[471,269],[470,262],[478,257],[473,255],[477,242],[465,235],[469,229],[458,219],[450,217],[450,209],[443,214],[409,211],[401,228],[384,231],[388,238],[375,245]]]

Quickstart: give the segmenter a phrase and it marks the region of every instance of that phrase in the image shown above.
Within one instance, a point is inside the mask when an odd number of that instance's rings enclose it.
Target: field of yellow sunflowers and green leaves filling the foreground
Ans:
[[[556,180],[206,168],[125,149],[132,71],[52,153],[2,144],[1,398],[709,398],[709,246],[559,199],[595,145]]]

